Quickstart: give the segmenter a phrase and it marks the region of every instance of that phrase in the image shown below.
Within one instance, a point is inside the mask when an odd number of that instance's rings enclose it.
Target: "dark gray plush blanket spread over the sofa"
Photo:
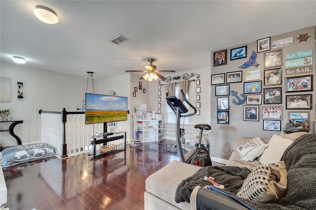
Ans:
[[[294,140],[281,160],[285,162],[288,185],[286,195],[278,204],[239,200],[256,210],[316,210],[316,134],[306,134]],[[221,191],[236,196],[249,173],[247,168],[204,167],[179,184],[175,201],[190,203],[191,192],[196,186],[210,185],[203,179],[204,175],[213,176],[217,183],[225,185],[225,189]]]

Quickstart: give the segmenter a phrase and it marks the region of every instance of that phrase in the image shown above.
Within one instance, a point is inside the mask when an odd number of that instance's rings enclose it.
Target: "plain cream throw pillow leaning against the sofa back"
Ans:
[[[292,140],[273,135],[268,143],[268,148],[262,153],[259,162],[265,165],[279,162],[285,149],[287,149],[292,142]]]

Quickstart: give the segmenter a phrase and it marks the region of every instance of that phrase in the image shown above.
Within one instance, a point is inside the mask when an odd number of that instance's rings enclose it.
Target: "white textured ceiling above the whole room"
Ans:
[[[53,9],[55,25],[37,19],[36,5]],[[210,67],[213,50],[316,25],[316,0],[90,1],[1,0],[1,62],[97,78],[145,70]],[[117,35],[129,40],[114,44]]]

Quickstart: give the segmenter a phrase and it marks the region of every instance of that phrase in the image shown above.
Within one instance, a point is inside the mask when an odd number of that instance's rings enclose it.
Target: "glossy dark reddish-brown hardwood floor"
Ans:
[[[142,210],[145,179],[179,160],[164,141],[93,159],[57,157],[3,170],[10,210]]]

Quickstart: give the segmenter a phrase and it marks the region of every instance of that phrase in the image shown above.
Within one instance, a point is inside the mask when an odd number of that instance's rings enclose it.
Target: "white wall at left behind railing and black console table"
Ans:
[[[10,109],[12,120],[24,120],[15,127],[14,133],[22,143],[40,141],[39,110],[76,111],[77,105],[85,98],[86,78],[36,70],[1,63],[1,77],[11,78],[11,102],[0,102],[0,109]],[[23,82],[23,99],[17,98],[17,82]],[[92,81],[89,81],[89,90]],[[97,81],[94,81],[97,90]],[[1,129],[7,129],[10,123],[1,123]],[[8,133],[0,133],[2,146],[16,144],[16,140]]]

